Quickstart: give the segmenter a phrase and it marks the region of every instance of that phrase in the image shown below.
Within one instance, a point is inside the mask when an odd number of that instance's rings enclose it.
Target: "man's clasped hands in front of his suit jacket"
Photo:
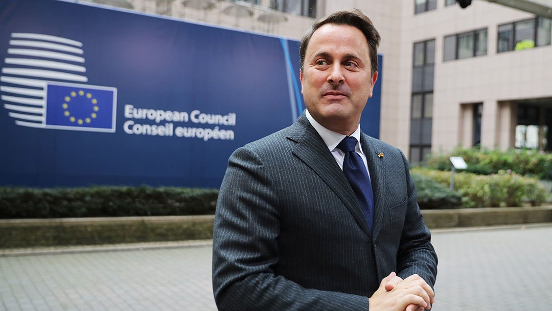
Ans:
[[[431,286],[417,274],[402,280],[391,272],[369,298],[369,308],[370,311],[423,311],[431,308],[433,295]]]

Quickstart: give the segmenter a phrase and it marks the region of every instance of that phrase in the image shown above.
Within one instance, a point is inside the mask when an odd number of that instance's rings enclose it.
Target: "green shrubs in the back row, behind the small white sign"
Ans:
[[[463,157],[468,164],[466,172],[489,175],[505,170],[527,177],[552,179],[552,154],[537,150],[456,148],[451,152],[432,152],[427,167],[448,171],[452,167],[450,156]]]

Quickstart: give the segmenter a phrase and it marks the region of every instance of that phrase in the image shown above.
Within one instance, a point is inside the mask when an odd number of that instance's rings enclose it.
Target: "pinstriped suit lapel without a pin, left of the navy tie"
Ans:
[[[302,162],[311,168],[323,181],[337,194],[346,208],[351,212],[359,226],[369,236],[371,235],[368,223],[360,210],[357,198],[351,185],[339,169],[336,160],[320,135],[316,132],[302,114],[297,121],[289,128],[288,139],[296,141],[291,153],[297,156]]]

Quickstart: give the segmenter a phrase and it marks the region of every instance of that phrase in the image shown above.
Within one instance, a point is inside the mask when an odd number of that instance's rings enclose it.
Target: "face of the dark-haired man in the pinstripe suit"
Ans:
[[[327,129],[349,135],[358,127],[378,73],[371,74],[362,31],[325,24],[312,34],[300,78],[312,117]]]

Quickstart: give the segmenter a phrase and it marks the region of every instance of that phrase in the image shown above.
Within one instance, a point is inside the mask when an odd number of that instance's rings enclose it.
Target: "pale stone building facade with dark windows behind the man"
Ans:
[[[482,0],[94,2],[298,40],[359,8],[382,36],[380,139],[411,163],[457,146],[552,150],[551,21],[534,14]]]

